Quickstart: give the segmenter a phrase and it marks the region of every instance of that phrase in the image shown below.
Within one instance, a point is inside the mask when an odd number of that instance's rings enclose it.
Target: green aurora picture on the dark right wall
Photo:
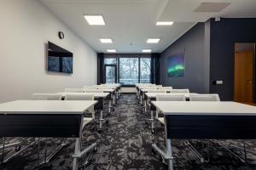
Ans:
[[[184,54],[172,55],[167,59],[168,77],[184,77]]]

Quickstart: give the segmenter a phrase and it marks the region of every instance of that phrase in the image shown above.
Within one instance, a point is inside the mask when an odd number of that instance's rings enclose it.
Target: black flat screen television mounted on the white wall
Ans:
[[[73,53],[48,42],[47,71],[73,74]]]

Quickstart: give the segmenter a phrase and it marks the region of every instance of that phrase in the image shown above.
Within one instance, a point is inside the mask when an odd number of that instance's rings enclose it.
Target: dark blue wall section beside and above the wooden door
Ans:
[[[256,19],[211,19],[210,81],[223,80],[210,91],[222,100],[233,100],[235,43],[256,42]]]

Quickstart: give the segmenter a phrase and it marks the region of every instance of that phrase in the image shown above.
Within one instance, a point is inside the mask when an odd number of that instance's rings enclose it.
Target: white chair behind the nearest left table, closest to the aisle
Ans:
[[[66,97],[65,97],[65,100],[94,100],[94,95],[90,95],[90,94],[67,94]],[[91,107],[90,110],[85,111],[84,119],[83,119],[84,120],[83,121],[83,129],[84,129],[84,127],[87,124],[89,124],[92,121],[95,121],[95,110],[94,110],[94,107],[95,106]],[[91,116],[85,116],[86,113],[90,113]],[[76,141],[76,142],[78,142],[78,141]],[[88,152],[90,152],[90,153],[86,157],[83,165],[86,165],[88,163],[88,161],[90,159],[90,156],[92,155],[94,150],[96,150],[96,143],[90,144],[90,146],[87,147],[86,152],[84,152],[83,154],[85,155]]]

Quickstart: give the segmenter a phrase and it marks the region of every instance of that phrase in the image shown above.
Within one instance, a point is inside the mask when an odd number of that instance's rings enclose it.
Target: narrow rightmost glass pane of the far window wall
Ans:
[[[151,58],[141,58],[140,83],[149,83],[151,78]]]

